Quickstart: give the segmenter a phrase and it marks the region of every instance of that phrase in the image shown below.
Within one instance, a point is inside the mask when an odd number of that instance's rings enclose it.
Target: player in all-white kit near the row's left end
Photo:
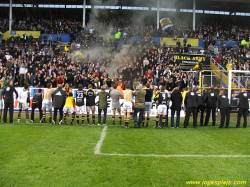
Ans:
[[[19,101],[19,113],[18,113],[18,122],[21,121],[21,113],[22,109],[26,112],[26,123],[29,123],[29,105],[30,102],[30,92],[29,86],[25,85],[24,89],[18,94],[18,101]]]

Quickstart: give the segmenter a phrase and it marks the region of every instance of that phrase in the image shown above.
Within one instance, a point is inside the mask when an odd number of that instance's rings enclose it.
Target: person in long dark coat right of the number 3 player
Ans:
[[[182,95],[179,90],[179,87],[174,88],[170,100],[172,101],[171,106],[171,128],[174,128],[174,115],[176,113],[176,128],[180,126],[180,112],[181,112],[181,104],[182,104]]]

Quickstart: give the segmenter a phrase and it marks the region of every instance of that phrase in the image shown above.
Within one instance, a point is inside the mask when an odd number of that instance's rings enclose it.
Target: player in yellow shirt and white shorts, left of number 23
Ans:
[[[75,108],[74,108],[74,106],[75,106],[75,99],[73,97],[73,93],[70,92],[68,97],[66,98],[66,102],[65,102],[65,105],[63,107],[63,112],[64,112],[63,119],[64,119],[65,124],[67,124],[66,123],[67,114],[72,114],[72,120],[71,120],[70,125],[73,125],[73,121],[75,119]]]

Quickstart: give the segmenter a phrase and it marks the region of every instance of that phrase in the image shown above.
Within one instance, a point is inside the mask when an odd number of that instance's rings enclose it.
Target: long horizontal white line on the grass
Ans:
[[[250,155],[153,155],[153,154],[109,154],[109,153],[95,153],[99,155],[105,156],[133,156],[133,157],[164,157],[164,158],[171,158],[171,157],[219,157],[219,158],[249,158]]]

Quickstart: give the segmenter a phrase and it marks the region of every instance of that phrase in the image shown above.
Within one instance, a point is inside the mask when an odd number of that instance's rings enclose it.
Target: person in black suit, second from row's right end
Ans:
[[[230,112],[231,112],[231,105],[229,103],[228,97],[225,95],[224,91],[220,91],[218,96],[218,111],[220,111],[221,119],[220,119],[220,126],[219,128],[224,127],[225,118],[226,120],[226,128],[228,128],[230,123]]]

